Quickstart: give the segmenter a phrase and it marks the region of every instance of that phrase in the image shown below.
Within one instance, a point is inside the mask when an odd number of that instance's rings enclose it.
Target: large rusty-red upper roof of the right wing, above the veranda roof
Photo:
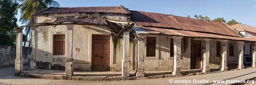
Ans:
[[[185,31],[202,31],[241,37],[226,24],[219,22],[144,11],[131,11],[131,18],[137,26],[174,28]]]

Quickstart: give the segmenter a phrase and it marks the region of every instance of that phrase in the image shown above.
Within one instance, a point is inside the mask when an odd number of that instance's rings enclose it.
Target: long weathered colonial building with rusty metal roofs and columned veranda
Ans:
[[[32,16],[29,68],[122,71],[170,71],[244,68],[244,42],[225,23],[114,7],[49,7]],[[253,59],[253,67],[255,62]]]

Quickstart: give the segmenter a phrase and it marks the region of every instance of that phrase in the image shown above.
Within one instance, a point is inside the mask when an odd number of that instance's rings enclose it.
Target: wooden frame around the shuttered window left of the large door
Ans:
[[[61,36],[64,36],[64,39],[59,39],[59,40],[55,40],[55,39],[54,39],[55,36],[60,36],[60,35],[61,35]],[[65,39],[66,39],[65,34],[53,34],[53,35],[52,35],[52,55],[53,55],[53,56],[63,56],[63,55],[65,55],[65,41],[66,41]],[[62,49],[63,54],[55,54],[55,49],[56,49],[55,46],[54,46],[54,45],[55,45],[55,44],[54,44],[55,41],[64,41],[64,42],[62,42],[62,43],[63,43],[63,46],[62,46],[62,48],[63,48],[63,49]]]

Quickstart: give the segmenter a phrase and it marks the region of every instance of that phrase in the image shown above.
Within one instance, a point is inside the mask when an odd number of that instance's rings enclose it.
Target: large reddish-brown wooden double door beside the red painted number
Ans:
[[[110,35],[92,36],[92,70],[110,70]]]

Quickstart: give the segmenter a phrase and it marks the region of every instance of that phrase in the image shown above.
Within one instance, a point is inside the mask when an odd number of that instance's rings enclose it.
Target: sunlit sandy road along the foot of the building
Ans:
[[[57,79],[35,79],[26,77],[6,76],[0,77],[0,84],[17,84],[17,85],[181,85],[174,83],[175,80],[208,80],[207,83],[188,83],[188,85],[224,85],[225,83],[213,83],[213,80],[245,80],[256,77],[256,68],[248,68],[238,71],[226,71],[215,74],[203,74],[186,77],[171,77],[163,79],[140,79],[125,81],[77,81],[77,80],[57,80]],[[172,79],[172,83],[169,80]],[[232,84],[232,83],[227,83]]]

